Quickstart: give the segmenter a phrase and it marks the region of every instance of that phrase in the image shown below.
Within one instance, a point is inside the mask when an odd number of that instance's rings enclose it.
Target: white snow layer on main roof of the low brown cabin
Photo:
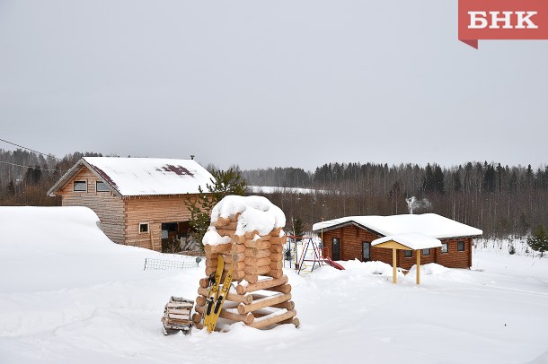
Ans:
[[[474,237],[483,231],[457,222],[436,213],[405,214],[392,216],[347,216],[323,222],[316,222],[314,232],[331,230],[347,223],[374,230],[384,236],[416,232],[431,238]]]

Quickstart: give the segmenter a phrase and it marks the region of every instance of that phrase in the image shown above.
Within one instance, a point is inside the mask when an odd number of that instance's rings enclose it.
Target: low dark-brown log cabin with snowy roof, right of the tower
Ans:
[[[372,247],[376,238],[405,233],[420,233],[438,238],[442,246],[422,250],[398,250],[397,266],[410,269],[420,254],[421,264],[437,263],[449,268],[472,266],[472,240],[482,230],[447,219],[436,213],[393,216],[348,216],[314,224],[314,233],[323,237],[333,260],[359,259],[393,264],[392,251]]]

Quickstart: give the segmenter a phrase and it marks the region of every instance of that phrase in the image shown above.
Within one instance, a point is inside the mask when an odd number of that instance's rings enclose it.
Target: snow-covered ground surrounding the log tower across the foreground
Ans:
[[[170,296],[203,266],[143,270],[84,208],[0,207],[0,363],[548,363],[548,259],[479,245],[473,269],[429,264],[392,283],[376,262],[287,270],[300,328],[164,336]]]

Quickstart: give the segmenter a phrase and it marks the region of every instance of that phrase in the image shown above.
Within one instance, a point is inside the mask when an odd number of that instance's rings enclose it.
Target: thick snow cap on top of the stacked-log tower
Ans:
[[[286,226],[286,215],[281,209],[262,196],[228,195],[215,205],[211,212],[211,222],[228,218],[240,213],[236,235],[257,230],[260,235],[267,235],[276,228]],[[213,239],[215,240],[215,239]],[[217,241],[217,240],[215,240]]]

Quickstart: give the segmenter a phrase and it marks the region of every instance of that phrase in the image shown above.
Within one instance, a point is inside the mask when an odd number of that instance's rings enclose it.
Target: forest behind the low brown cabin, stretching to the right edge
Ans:
[[[290,221],[312,222],[349,215],[436,212],[482,229],[485,236],[525,236],[548,224],[548,167],[538,169],[468,162],[442,168],[437,164],[388,166],[374,163],[330,163],[314,172],[275,168],[244,170],[248,185],[292,186],[322,190],[310,195],[270,194]],[[290,222],[288,222],[290,223]]]

